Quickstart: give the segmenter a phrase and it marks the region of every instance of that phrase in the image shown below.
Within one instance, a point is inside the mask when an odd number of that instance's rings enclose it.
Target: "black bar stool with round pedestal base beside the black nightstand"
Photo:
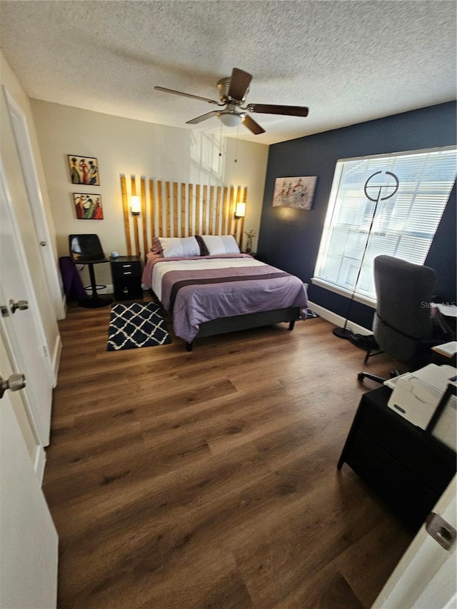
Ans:
[[[101,247],[99,236],[94,234],[69,235],[69,250],[70,257],[74,263],[87,264],[89,266],[92,295],[90,298],[84,298],[79,301],[79,306],[84,308],[99,308],[111,304],[113,302],[112,298],[100,298],[97,293],[94,264],[109,262],[109,258],[106,258]]]

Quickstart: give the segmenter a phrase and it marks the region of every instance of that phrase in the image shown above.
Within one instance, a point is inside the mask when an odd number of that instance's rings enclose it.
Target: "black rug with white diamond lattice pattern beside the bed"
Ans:
[[[164,318],[155,303],[117,303],[111,306],[106,351],[171,343]]]

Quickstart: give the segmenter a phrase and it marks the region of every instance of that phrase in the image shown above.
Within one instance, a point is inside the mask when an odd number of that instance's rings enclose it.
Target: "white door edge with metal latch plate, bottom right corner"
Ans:
[[[456,477],[433,508],[457,528]],[[421,526],[388,579],[372,609],[455,609],[457,607],[456,543],[445,550]]]

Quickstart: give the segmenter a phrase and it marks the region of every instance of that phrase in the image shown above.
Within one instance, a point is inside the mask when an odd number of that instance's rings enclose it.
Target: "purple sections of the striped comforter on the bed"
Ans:
[[[240,254],[227,255],[224,258],[229,256],[239,257]],[[221,256],[205,258],[221,258]],[[152,268],[156,262],[151,264]],[[254,274],[263,278],[253,279]],[[221,279],[221,283],[184,285],[176,293],[173,309],[174,331],[176,336],[188,343],[194,340],[200,324],[205,321],[286,307],[305,309],[308,306],[303,282],[298,277],[267,264],[200,271],[169,271],[162,282],[162,305],[169,309],[171,291],[176,281],[217,276],[236,277],[237,281],[224,282],[224,279]]]

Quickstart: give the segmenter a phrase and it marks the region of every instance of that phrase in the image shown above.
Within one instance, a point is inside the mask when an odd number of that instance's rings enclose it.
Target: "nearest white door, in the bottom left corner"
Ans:
[[[0,608],[56,607],[58,537],[9,391],[0,399],[0,540]]]

